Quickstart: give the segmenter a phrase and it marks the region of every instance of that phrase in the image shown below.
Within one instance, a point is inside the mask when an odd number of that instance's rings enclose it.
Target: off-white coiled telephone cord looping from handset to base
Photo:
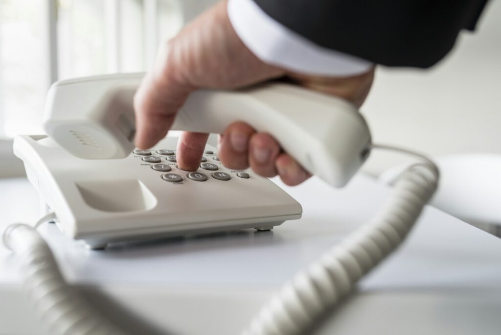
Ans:
[[[242,335],[307,333],[319,317],[352,291],[360,278],[403,242],[436,191],[439,172],[423,155],[386,145],[372,148],[410,153],[424,161],[401,173],[393,182],[386,204],[373,219],[285,284]],[[53,218],[49,214],[37,226]],[[65,282],[51,249],[35,228],[26,224],[9,226],[4,244],[16,254],[24,273],[24,289],[52,333],[125,334]]]

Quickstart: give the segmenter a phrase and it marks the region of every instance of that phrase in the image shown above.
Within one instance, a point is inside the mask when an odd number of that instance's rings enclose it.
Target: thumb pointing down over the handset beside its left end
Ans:
[[[188,81],[177,73],[175,61],[165,46],[134,96],[137,147],[149,148],[167,134],[192,90]]]

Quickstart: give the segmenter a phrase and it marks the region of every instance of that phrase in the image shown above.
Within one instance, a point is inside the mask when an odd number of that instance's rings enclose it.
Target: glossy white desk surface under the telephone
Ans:
[[[341,191],[317,179],[285,189],[303,205],[304,216],[274,232],[177,238],[102,252],[84,250],[54,226],[42,232],[67,279],[133,333],[238,334],[272,292],[366,221],[388,193],[363,176]],[[39,216],[35,191],[22,179],[0,181],[0,204],[0,231]],[[428,208],[405,245],[315,333],[499,334],[500,264],[501,239]],[[19,287],[2,246],[0,334],[44,334]]]

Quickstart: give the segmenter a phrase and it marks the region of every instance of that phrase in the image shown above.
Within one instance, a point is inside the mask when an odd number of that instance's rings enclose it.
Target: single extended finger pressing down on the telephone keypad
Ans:
[[[203,132],[183,132],[177,142],[176,160],[179,169],[195,171],[200,165],[205,143],[209,134]]]

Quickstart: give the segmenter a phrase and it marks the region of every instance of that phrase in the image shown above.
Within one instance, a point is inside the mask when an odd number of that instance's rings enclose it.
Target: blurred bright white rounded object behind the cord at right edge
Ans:
[[[472,153],[435,159],[441,179],[431,205],[469,223],[501,225],[501,155]],[[405,166],[395,166],[379,179],[391,182]]]

